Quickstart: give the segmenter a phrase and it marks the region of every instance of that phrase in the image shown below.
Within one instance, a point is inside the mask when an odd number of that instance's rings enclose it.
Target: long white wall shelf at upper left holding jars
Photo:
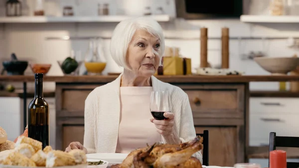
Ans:
[[[106,16],[19,16],[19,17],[0,17],[0,23],[48,23],[48,22],[120,22],[134,16],[126,15],[106,15]],[[170,20],[170,16],[149,15],[156,21],[165,22]]]

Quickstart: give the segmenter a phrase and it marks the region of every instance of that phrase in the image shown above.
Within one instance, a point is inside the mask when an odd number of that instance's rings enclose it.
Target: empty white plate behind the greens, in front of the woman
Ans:
[[[121,164],[129,154],[115,154],[115,153],[96,153],[87,154],[87,159],[97,159],[109,162],[108,167],[111,165]]]

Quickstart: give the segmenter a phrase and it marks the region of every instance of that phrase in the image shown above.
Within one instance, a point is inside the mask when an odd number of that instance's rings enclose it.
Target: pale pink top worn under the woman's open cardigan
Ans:
[[[149,119],[152,87],[120,87],[121,115],[116,153],[159,143],[160,135]]]

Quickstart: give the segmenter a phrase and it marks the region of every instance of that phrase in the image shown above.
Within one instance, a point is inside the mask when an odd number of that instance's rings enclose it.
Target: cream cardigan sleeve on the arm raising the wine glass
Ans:
[[[184,96],[184,100],[183,100],[184,103],[182,106],[182,112],[180,116],[180,132],[179,132],[179,137],[182,143],[191,141],[196,137],[189,98],[186,93],[184,94],[185,96]],[[199,161],[202,164],[201,150],[194,153],[192,156],[199,159]]]

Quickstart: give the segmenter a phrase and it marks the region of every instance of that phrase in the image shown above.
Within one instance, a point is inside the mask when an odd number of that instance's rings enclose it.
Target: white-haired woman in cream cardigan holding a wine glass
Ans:
[[[110,52],[124,72],[113,82],[94,89],[85,100],[84,146],[72,142],[66,152],[130,153],[146,144],[178,144],[195,138],[189,99],[179,87],[153,76],[164,52],[161,26],[150,18],[120,22],[112,35]],[[152,90],[168,91],[172,112],[155,120],[149,111]],[[194,154],[202,162],[201,153]]]

